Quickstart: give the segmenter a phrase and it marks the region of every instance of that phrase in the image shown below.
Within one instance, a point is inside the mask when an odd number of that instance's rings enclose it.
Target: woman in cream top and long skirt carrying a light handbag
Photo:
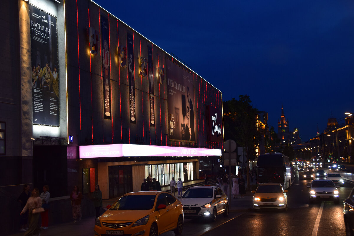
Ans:
[[[29,227],[24,233],[25,236],[32,236],[33,234],[41,235],[41,229],[38,226],[39,212],[44,211],[42,206],[42,199],[39,197],[39,189],[34,188],[32,195],[28,198],[26,206],[22,209],[20,215],[23,215],[28,210]]]

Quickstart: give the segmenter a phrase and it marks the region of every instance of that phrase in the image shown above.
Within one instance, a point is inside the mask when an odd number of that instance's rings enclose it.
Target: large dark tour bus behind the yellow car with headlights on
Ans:
[[[284,189],[290,187],[290,161],[282,153],[271,152],[258,156],[256,171],[257,184],[280,183]]]

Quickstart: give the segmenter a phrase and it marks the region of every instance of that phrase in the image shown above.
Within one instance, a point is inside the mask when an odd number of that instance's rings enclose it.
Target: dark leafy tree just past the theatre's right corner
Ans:
[[[239,100],[223,102],[225,139],[233,139],[238,146],[246,149],[247,161],[256,158],[256,148],[261,139],[257,127],[257,108],[251,105],[248,95],[240,95]],[[250,189],[250,167],[247,165],[247,189]]]

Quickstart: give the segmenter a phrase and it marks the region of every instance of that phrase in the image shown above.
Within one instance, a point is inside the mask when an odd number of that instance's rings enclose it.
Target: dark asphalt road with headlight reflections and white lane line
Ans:
[[[330,171],[329,171],[330,172]],[[304,180],[296,171],[296,179],[288,192],[287,212],[264,209],[246,211],[228,217],[228,220],[212,224],[207,221],[185,220],[182,235],[195,235],[190,232],[200,228],[203,236],[252,235],[252,236],[339,236],[346,235],[343,221],[342,201],[347,198],[353,184],[346,182],[338,188],[341,203],[321,201],[309,204],[308,188],[311,180]],[[205,229],[209,229],[205,231]],[[194,231],[195,232],[195,231]],[[163,234],[168,235],[168,233]]]

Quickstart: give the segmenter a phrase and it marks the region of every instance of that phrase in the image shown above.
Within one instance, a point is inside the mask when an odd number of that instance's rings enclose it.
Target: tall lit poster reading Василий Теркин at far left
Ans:
[[[33,123],[59,126],[57,18],[29,4]]]

